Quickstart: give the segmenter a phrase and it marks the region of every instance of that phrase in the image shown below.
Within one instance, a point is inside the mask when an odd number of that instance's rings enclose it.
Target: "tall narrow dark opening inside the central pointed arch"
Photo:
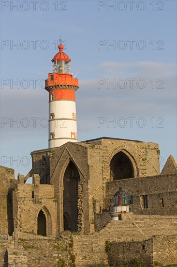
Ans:
[[[78,219],[78,182],[79,172],[70,161],[63,178],[63,221],[64,230],[77,232]]]

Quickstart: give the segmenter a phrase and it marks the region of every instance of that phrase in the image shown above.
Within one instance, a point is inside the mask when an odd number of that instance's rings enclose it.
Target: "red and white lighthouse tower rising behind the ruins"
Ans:
[[[45,90],[49,92],[49,148],[77,142],[75,91],[79,86],[71,74],[70,62],[59,44],[59,52],[52,59],[53,72],[45,80]]]

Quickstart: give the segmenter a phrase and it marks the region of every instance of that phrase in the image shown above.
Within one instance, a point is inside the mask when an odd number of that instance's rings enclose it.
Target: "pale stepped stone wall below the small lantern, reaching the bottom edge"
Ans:
[[[74,235],[76,266],[107,264],[105,241],[142,241],[152,235],[177,234],[177,216],[142,216],[126,213],[124,220],[111,221],[100,232]]]

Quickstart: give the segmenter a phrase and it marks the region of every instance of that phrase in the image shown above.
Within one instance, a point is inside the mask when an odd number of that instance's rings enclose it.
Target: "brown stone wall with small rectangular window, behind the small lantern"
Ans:
[[[175,192],[177,175],[157,175],[108,182],[105,200],[108,205],[113,204],[113,195],[118,191],[119,186],[122,186],[128,195],[133,195],[131,210],[135,214],[177,215]],[[148,208],[145,209],[143,208],[143,195],[148,196]]]

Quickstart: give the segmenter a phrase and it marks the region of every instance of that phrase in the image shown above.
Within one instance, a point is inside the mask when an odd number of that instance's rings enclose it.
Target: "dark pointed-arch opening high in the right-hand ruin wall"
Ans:
[[[110,163],[110,179],[115,181],[133,177],[134,171],[130,158],[122,151],[118,152]]]

